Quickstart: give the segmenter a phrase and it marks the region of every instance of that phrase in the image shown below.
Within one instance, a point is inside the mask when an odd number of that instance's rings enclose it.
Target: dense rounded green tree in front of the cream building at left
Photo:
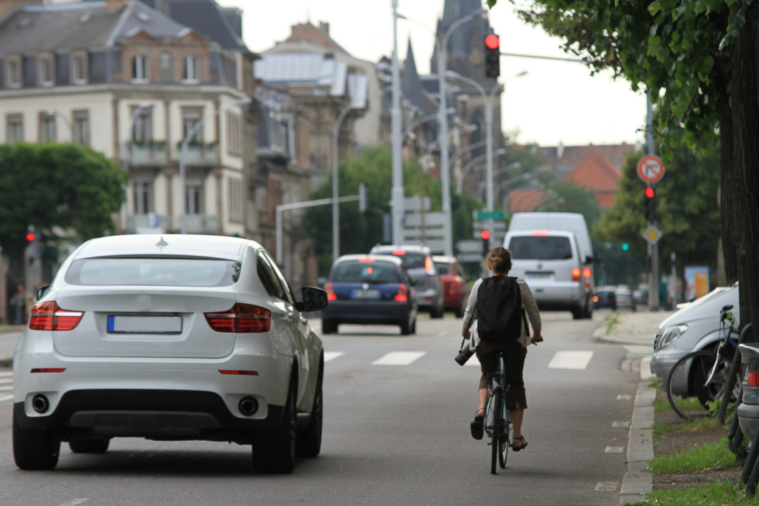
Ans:
[[[43,240],[55,239],[55,228],[71,229],[80,239],[109,232],[127,180],[124,169],[79,144],[0,145],[3,254],[24,251],[29,225]]]

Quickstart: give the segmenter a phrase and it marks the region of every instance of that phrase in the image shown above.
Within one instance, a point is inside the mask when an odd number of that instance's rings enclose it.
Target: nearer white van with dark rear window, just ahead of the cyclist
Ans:
[[[503,246],[512,252],[509,275],[527,282],[541,311],[593,317],[593,273],[574,232],[514,230],[506,232]]]

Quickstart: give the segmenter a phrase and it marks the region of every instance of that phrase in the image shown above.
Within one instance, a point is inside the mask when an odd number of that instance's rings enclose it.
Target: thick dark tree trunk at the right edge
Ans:
[[[736,224],[739,240],[732,241],[737,255],[738,278],[741,283],[741,323],[759,317],[759,95],[757,95],[757,11],[754,2],[746,12],[732,49],[732,126],[734,128],[735,167],[738,172],[737,192],[724,194],[725,200],[739,205]],[[757,321],[759,323],[759,321]],[[754,332],[752,341],[757,341]]]

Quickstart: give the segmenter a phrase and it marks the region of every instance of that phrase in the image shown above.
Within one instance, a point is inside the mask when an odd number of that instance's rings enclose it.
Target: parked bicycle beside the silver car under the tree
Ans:
[[[716,348],[688,353],[675,362],[667,375],[667,400],[682,419],[695,420],[709,416],[708,403],[723,397],[732,357],[738,351],[738,343],[732,339],[732,334],[737,334],[737,331],[731,310],[732,305],[720,310],[720,332],[724,337],[720,338]],[[732,391],[733,400],[738,398],[740,384],[738,378]],[[677,395],[681,397],[679,401],[675,400]],[[689,402],[686,397],[695,397],[698,402]]]

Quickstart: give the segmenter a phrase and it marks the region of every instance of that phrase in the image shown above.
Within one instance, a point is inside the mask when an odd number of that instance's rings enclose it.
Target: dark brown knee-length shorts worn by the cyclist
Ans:
[[[480,361],[480,390],[493,385],[493,378],[488,378],[488,374],[493,374],[498,369],[497,352],[503,352],[503,365],[505,372],[505,384],[509,388],[505,391],[504,397],[506,408],[508,410],[526,410],[527,397],[524,394],[524,357],[527,356],[527,348],[520,343],[486,343],[480,341],[477,344],[477,360]]]

